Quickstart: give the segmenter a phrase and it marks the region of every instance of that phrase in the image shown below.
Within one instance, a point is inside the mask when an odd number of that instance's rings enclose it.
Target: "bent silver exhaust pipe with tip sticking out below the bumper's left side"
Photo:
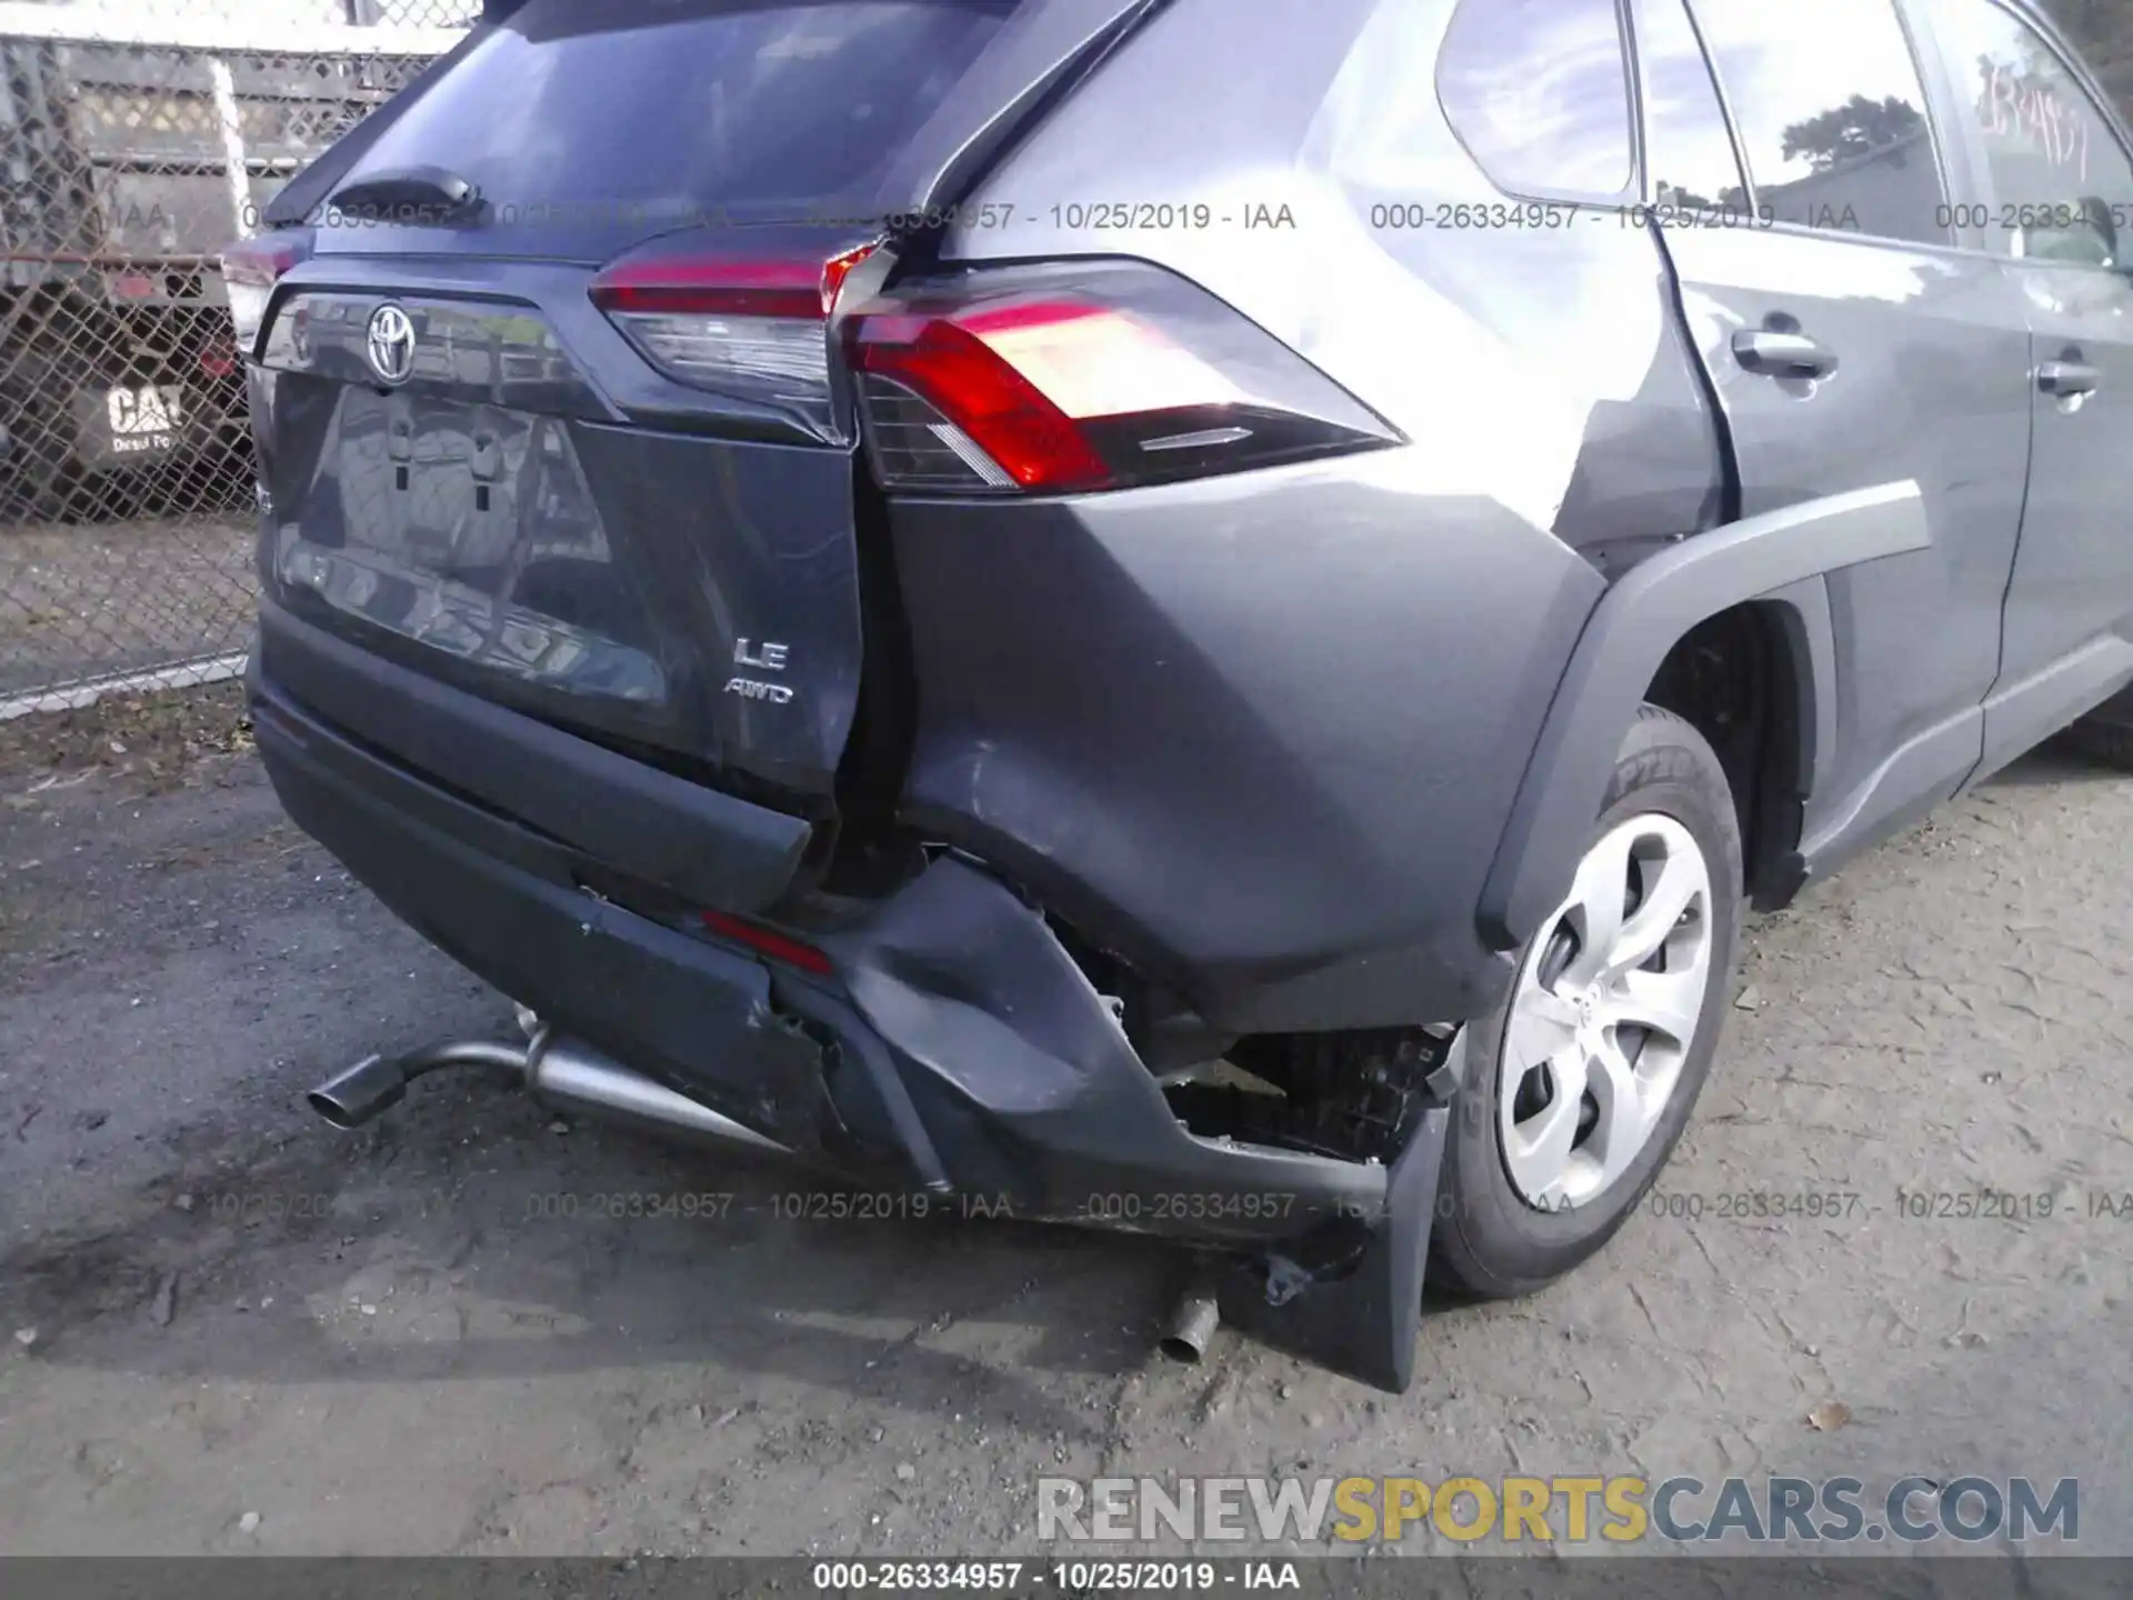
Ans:
[[[525,1047],[476,1039],[431,1045],[405,1056],[365,1056],[305,1099],[333,1126],[360,1129],[399,1105],[414,1079],[456,1067],[484,1067],[516,1075],[538,1101],[559,1111],[589,1111],[668,1137],[789,1154],[774,1139],[740,1126],[687,1094],[676,1094],[591,1045],[557,1037],[540,1024],[529,1024],[527,1033],[531,1043]]]

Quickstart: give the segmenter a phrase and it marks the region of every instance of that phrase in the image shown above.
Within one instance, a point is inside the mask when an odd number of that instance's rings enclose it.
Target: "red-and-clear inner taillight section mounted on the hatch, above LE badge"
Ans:
[[[653,245],[593,279],[593,305],[668,378],[832,425],[830,314],[875,243],[834,256]]]

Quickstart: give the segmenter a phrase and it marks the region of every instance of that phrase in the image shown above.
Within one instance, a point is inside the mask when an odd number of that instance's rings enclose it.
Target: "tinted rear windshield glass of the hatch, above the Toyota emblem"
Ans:
[[[348,177],[444,166],[503,224],[857,205],[1015,4],[529,0]]]

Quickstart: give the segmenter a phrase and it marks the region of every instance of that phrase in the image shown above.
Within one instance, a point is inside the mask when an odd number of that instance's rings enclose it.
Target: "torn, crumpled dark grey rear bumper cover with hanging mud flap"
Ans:
[[[275,676],[273,649],[250,689],[290,817],[570,1035],[862,1182],[1226,1250],[1256,1291],[1233,1321],[1408,1382],[1442,1105],[1391,1165],[1199,1137],[1045,919],[977,864],[936,858],[813,937],[830,973],[772,966],[591,892],[599,862],[326,721]]]

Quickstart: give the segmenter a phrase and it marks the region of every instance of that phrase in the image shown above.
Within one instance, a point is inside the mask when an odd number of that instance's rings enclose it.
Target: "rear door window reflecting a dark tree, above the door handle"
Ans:
[[[1926,90],[1892,0],[1696,0],[1775,222],[1950,243]]]

